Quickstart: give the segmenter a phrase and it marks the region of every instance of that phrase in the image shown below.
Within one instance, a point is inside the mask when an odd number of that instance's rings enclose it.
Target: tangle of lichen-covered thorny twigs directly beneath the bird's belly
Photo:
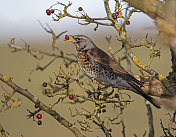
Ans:
[[[47,96],[56,96],[56,95],[62,95],[61,97],[59,97],[58,101],[55,102],[52,107],[56,104],[58,104],[60,101],[64,101],[67,96],[72,96],[74,98],[72,98],[72,101],[73,102],[68,102],[68,103],[71,103],[71,104],[76,104],[76,103],[83,103],[85,101],[90,101],[92,103],[94,103],[95,105],[95,109],[94,109],[94,112],[91,113],[85,109],[85,112],[78,112],[78,110],[76,110],[76,113],[73,114],[71,109],[71,116],[72,117],[76,117],[76,116],[85,116],[86,118],[86,121],[83,120],[79,120],[79,121],[76,121],[76,123],[79,123],[79,125],[81,126],[81,130],[83,131],[88,131],[90,132],[91,129],[91,123],[94,123],[95,125],[97,125],[103,132],[104,134],[107,136],[107,137],[111,137],[111,134],[110,134],[110,129],[108,129],[104,123],[104,121],[101,120],[100,118],[100,113],[101,111],[106,111],[105,108],[106,108],[106,104],[115,104],[116,107],[118,108],[122,108],[121,111],[123,109],[125,109],[125,107],[127,106],[128,103],[130,103],[132,100],[131,100],[131,97],[127,94],[128,96],[128,99],[124,99],[122,97],[122,94],[119,93],[119,97],[117,99],[117,97],[113,96],[113,93],[114,93],[114,90],[112,90],[111,92],[108,92],[108,91],[98,91],[97,89],[95,89],[94,91],[91,91],[89,90],[86,85],[84,84],[84,82],[82,82],[80,79],[79,79],[79,75],[77,72],[75,72],[75,65],[73,65],[71,68],[70,68],[70,71],[67,73],[64,72],[64,70],[60,67],[60,70],[59,70],[59,74],[56,76],[56,85],[57,86],[60,86],[61,87],[65,87],[65,88],[62,88],[63,90],[62,91],[58,91],[58,92],[55,92],[55,91],[48,91],[47,89],[45,89],[45,93]],[[85,95],[80,95],[80,94],[76,94],[73,92],[72,89],[70,89],[70,82],[71,81],[76,81],[76,83],[80,86],[80,88],[88,94],[88,97],[86,97]],[[48,92],[46,92],[48,91]],[[79,98],[83,99],[80,100]],[[115,108],[114,108],[115,109]],[[122,113],[122,112],[121,112]],[[111,120],[111,121],[114,121],[114,120]]]

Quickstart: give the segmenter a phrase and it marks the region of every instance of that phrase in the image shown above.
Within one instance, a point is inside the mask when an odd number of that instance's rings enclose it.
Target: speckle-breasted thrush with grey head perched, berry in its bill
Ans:
[[[70,38],[73,40],[70,40]],[[78,65],[88,78],[95,79],[105,88],[124,87],[141,95],[156,108],[161,108],[159,101],[141,89],[143,87],[141,81],[137,80],[106,52],[97,47],[89,37],[85,35],[66,35],[65,41],[75,45]]]

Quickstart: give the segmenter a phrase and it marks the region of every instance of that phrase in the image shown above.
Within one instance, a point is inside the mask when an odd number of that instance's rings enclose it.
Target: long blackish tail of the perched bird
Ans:
[[[152,98],[151,96],[147,95],[139,86],[137,86],[134,83],[129,83],[136,91],[135,93],[138,93],[139,95],[143,96],[146,100],[148,100],[150,103],[152,103],[156,108],[161,108],[161,103],[158,102],[156,99]]]

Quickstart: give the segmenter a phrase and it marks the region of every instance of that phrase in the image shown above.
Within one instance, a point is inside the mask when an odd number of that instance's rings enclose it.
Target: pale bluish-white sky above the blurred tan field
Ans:
[[[64,18],[60,21],[53,21],[52,16],[46,15],[46,9],[55,4],[56,0],[0,0],[0,45],[6,44],[10,37],[16,39],[24,39],[32,42],[45,39],[48,35],[44,32],[38,23],[38,20],[43,25],[46,23],[56,32],[68,30],[70,34],[84,35],[110,35],[115,33],[111,27],[99,27],[93,31],[95,24],[88,26],[80,26],[78,20]],[[59,2],[68,4],[68,0],[59,0]],[[71,14],[79,15],[78,7],[83,7],[84,11],[90,17],[105,17],[105,9],[103,0],[71,0],[72,6],[68,9]],[[110,0],[111,8],[114,6],[114,1]],[[62,9],[62,6],[56,5],[55,8]],[[139,31],[146,31],[150,28],[156,31],[154,21],[143,13],[135,13],[130,18],[131,24],[127,28],[135,34]]]

